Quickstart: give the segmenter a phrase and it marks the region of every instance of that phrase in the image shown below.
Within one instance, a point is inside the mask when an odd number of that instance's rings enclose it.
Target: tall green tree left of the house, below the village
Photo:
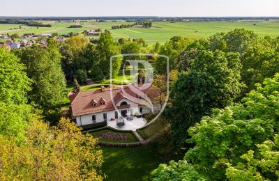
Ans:
[[[58,49],[51,45],[47,49],[34,45],[23,50],[21,59],[27,66],[28,77],[33,81],[29,102],[34,102],[44,113],[57,109],[66,94]]]

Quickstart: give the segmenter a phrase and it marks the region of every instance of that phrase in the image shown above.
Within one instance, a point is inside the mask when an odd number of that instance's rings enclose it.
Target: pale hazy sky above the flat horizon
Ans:
[[[278,0],[1,0],[0,16],[278,16]]]

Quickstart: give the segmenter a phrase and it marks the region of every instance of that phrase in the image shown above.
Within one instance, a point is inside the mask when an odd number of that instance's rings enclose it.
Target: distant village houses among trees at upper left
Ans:
[[[100,34],[99,30],[85,30],[84,35],[86,36],[98,36]],[[79,33],[73,33],[72,36],[77,36]],[[0,40],[4,40],[0,42],[0,47],[4,47],[8,50],[10,49],[20,49],[24,47],[31,46],[33,44],[40,45],[41,47],[47,46],[47,38],[56,38],[58,41],[66,40],[70,38],[71,35],[61,35],[61,36],[54,36],[52,33],[43,33],[40,35],[36,35],[34,33],[24,33],[21,36],[20,40],[12,40],[8,35],[0,34]]]

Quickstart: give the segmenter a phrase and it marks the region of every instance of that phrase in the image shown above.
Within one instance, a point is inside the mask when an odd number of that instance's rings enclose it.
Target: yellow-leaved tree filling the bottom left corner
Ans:
[[[17,145],[0,134],[1,180],[103,180],[98,140],[70,120],[57,127],[32,120],[26,139]]]

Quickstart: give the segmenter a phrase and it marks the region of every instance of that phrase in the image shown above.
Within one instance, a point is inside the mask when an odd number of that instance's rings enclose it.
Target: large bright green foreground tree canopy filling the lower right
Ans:
[[[164,176],[164,170],[171,171],[173,180],[179,178],[174,174],[178,171],[184,175],[194,170],[206,180],[277,180],[278,92],[276,74],[257,84],[242,104],[214,109],[212,116],[203,117],[188,130],[188,142],[195,146],[186,152],[185,161],[177,163],[183,166],[174,167],[173,162],[159,166],[156,178]]]

